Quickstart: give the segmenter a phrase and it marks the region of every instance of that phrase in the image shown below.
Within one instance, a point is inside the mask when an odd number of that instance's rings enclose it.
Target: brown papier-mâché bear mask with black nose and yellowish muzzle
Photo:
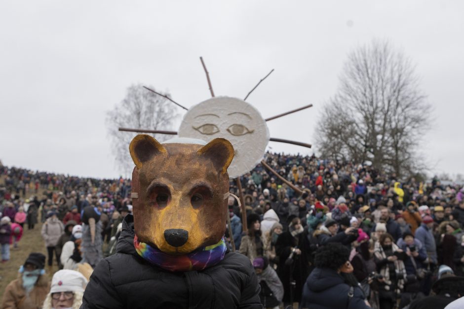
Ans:
[[[133,208],[138,240],[174,255],[221,240],[228,211],[227,168],[234,153],[227,139],[160,144],[138,135],[129,151],[139,180]]]

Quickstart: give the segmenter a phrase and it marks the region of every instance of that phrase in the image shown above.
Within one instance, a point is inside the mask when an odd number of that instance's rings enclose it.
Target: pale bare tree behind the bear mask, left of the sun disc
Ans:
[[[129,143],[137,134],[121,132],[118,128],[168,130],[176,117],[175,105],[166,98],[144,89],[141,84],[127,88],[126,97],[113,110],[107,112],[106,119],[116,165],[124,174],[132,172],[134,166],[129,155]],[[163,135],[153,136],[158,140],[166,139]]]

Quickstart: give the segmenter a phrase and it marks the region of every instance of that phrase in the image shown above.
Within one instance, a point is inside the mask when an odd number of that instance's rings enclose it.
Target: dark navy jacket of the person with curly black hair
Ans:
[[[327,268],[315,268],[309,274],[303,287],[300,308],[310,309],[368,309],[364,303],[364,294],[354,287],[353,297],[349,299],[349,285],[336,271]]]

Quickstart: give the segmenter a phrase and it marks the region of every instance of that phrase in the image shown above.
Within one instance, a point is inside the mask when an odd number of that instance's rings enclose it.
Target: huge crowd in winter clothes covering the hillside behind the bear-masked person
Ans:
[[[314,156],[265,160],[280,177],[262,165],[240,177],[243,205],[229,198],[226,229],[229,249],[255,269],[265,308],[444,308],[464,296],[462,185]],[[38,222],[48,254],[30,254],[2,308],[78,308],[92,268],[116,252],[130,179],[0,174],[2,264],[10,249],[28,249],[21,237]],[[230,190],[240,196],[235,181]],[[50,284],[52,265],[61,270]]]

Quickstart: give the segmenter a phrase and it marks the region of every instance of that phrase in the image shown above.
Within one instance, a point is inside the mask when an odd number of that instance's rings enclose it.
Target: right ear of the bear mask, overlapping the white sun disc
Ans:
[[[229,140],[225,138],[215,138],[201,147],[197,153],[211,160],[218,171],[225,173],[229,165],[231,165],[234,150]]]

